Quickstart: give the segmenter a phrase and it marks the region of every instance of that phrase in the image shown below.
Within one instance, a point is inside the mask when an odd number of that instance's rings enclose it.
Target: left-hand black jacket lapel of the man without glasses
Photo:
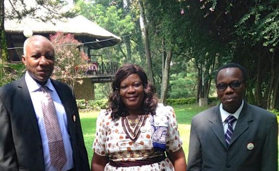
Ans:
[[[28,87],[25,82],[25,75],[23,75],[23,77],[18,80],[18,91],[19,99],[22,102],[19,103],[19,105],[22,105],[23,108],[26,109],[25,112],[27,113],[27,116],[30,119],[31,125],[34,127],[34,130],[37,133],[37,135],[41,137],[34,106],[28,91]]]

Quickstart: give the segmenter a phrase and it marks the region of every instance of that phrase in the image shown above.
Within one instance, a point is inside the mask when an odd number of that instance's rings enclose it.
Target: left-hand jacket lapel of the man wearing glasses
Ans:
[[[219,141],[223,144],[223,146],[227,148],[219,106],[216,106],[210,114],[212,115],[209,119],[209,122],[212,124],[211,129],[218,137]]]

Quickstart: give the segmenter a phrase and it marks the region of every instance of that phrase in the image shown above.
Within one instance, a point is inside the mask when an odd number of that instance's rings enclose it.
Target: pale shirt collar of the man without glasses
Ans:
[[[34,91],[38,91],[39,88],[42,86],[40,85],[39,83],[37,83],[29,74],[28,71],[26,71],[26,74],[25,74],[25,82],[26,82],[26,85],[28,87],[28,91],[29,93],[31,92],[34,92]],[[47,79],[47,82],[45,84],[45,86],[47,86],[47,88],[49,88],[51,91],[54,90],[54,86],[52,85],[50,79],[48,78]]]

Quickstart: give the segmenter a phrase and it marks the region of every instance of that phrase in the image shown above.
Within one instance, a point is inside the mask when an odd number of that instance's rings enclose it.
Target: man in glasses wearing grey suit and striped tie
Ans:
[[[187,171],[278,170],[277,118],[243,101],[246,81],[246,70],[239,64],[218,70],[221,104],[193,117]]]

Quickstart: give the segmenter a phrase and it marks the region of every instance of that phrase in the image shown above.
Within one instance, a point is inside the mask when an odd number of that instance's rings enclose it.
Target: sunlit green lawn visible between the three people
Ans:
[[[199,107],[197,105],[182,105],[172,107],[176,113],[180,136],[183,140],[183,150],[187,160],[191,119],[194,115],[207,109],[208,107]],[[96,119],[98,113],[99,111],[80,112],[83,136],[90,163],[93,155],[92,144],[95,136]]]

